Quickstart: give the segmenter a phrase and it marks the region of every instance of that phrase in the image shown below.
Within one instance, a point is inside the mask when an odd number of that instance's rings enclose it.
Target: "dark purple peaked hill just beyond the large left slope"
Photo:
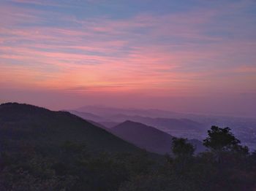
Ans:
[[[159,154],[170,152],[173,136],[170,136],[157,128],[144,125],[140,122],[127,120],[116,125],[110,130],[114,135],[121,139],[129,141],[130,143],[150,152],[156,152]],[[197,152],[204,150],[202,142],[196,139],[189,140],[189,142],[197,147]]]

